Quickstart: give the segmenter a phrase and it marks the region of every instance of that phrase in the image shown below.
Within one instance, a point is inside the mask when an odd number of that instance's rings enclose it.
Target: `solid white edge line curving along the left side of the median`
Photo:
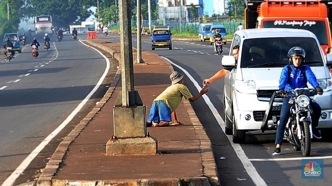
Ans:
[[[79,40],[80,41],[80,40]],[[82,41],[80,41],[82,44],[84,44]],[[75,115],[83,108],[84,104],[90,99],[90,97],[98,90],[98,88],[102,85],[107,72],[110,67],[110,62],[106,58],[105,55],[102,54],[99,50],[96,48],[93,48],[89,45],[84,44],[87,47],[90,47],[94,50],[96,50],[105,60],[106,60],[106,68],[103,73],[103,75],[100,77],[99,81],[97,82],[96,86],[91,90],[91,92],[80,102],[80,104],[75,108],[75,110],[70,113],[70,115],[55,129],[53,132],[46,137],[29,155],[28,157],[23,160],[23,162],[15,169],[14,172],[3,182],[2,186],[12,185],[14,184],[15,180],[18,178],[19,175],[23,173],[29,166],[29,164],[34,160],[34,158],[41,152],[41,150],[50,143],[50,141],[59,134],[59,132],[75,117]],[[6,88],[6,87],[5,87]],[[2,88],[0,88],[2,90]]]

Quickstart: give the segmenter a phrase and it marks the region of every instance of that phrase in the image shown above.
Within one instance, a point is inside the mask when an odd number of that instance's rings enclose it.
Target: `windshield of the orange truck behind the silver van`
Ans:
[[[328,44],[325,21],[271,20],[264,21],[263,28],[303,29],[314,33],[321,45]]]

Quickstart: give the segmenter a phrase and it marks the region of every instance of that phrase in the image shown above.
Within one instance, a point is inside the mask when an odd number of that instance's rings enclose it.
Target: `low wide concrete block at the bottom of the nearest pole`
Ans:
[[[157,153],[157,140],[144,138],[110,139],[106,143],[106,155],[152,155]]]

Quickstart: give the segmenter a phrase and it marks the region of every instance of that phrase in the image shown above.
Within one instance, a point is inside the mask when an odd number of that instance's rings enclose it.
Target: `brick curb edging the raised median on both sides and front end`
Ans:
[[[109,52],[113,58],[120,61],[121,52],[114,51],[104,45],[94,43],[89,40],[83,40],[89,45],[94,47],[99,47],[102,50]],[[154,54],[154,53],[152,53]],[[158,56],[158,58],[160,58]],[[162,59],[165,61],[164,59]],[[165,61],[167,62],[167,61]],[[168,63],[168,62],[167,62]],[[168,63],[169,64],[169,63]],[[168,65],[172,71],[174,71],[172,65]],[[45,169],[40,174],[36,185],[38,186],[55,186],[55,185],[133,185],[133,186],[157,186],[157,185],[165,185],[165,186],[179,186],[179,185],[206,185],[206,186],[217,186],[219,185],[219,178],[217,174],[217,166],[215,163],[214,155],[211,151],[211,142],[207,137],[205,130],[196,116],[195,111],[192,108],[192,105],[188,100],[184,100],[184,106],[189,115],[191,122],[195,128],[195,132],[200,141],[200,150],[202,155],[202,177],[189,177],[189,178],[167,178],[167,179],[137,179],[137,180],[56,180],[53,179],[53,176],[56,174],[63,157],[69,147],[69,145],[75,140],[76,137],[81,133],[81,131],[85,128],[85,126],[93,119],[94,116],[103,108],[104,104],[111,97],[114,92],[114,89],[120,80],[121,77],[121,64],[117,69],[116,74],[114,76],[114,80],[108,88],[104,97],[99,101],[99,103],[89,112],[89,114],[81,120],[81,122],[65,137],[62,142],[59,144],[54,154],[50,158],[50,161],[46,164]],[[26,184],[21,184],[26,185]],[[31,185],[31,183],[29,184]]]

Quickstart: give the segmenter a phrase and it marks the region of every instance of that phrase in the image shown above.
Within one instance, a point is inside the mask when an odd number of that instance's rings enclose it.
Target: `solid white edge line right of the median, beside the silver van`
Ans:
[[[202,89],[201,86],[199,86],[199,84],[196,82],[194,77],[191,74],[189,74],[189,72],[187,72],[184,68],[173,63],[171,60],[169,60],[167,58],[164,58],[164,57],[162,57],[162,58],[167,60],[168,62],[170,62],[172,65],[176,66],[177,68],[181,69],[188,76],[188,78],[193,82],[193,84],[196,87],[196,89],[198,90],[198,92]],[[206,102],[206,104],[208,105],[209,109],[211,110],[212,114],[215,116],[220,128],[225,133],[225,127],[224,127],[225,122],[224,122],[223,118],[220,116],[217,109],[210,101],[209,97],[206,94],[204,94],[202,97],[203,97],[204,101]],[[233,143],[230,135],[226,135],[226,137],[228,138],[229,143],[232,145],[236,155],[238,155],[240,161],[242,162],[243,167],[246,169],[246,172],[248,173],[248,175],[250,176],[250,178],[252,179],[254,184],[262,185],[262,186],[267,185],[266,182],[264,181],[264,179],[262,177],[260,177],[260,175],[256,171],[255,167],[250,162],[246,153],[243,151],[241,145]]]

